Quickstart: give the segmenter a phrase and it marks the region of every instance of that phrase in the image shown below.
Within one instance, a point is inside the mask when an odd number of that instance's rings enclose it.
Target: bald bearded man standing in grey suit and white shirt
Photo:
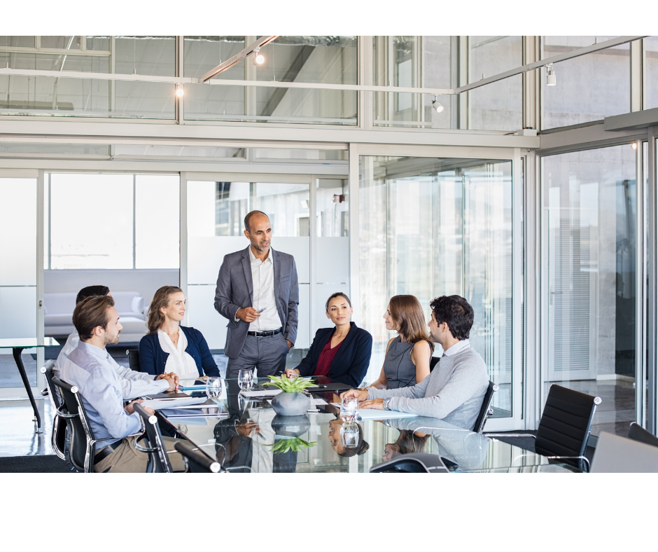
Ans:
[[[286,368],[297,338],[297,266],[292,255],[272,249],[272,224],[262,211],[244,217],[244,235],[249,246],[226,255],[219,269],[215,310],[229,321],[226,377],[255,367],[263,378]]]

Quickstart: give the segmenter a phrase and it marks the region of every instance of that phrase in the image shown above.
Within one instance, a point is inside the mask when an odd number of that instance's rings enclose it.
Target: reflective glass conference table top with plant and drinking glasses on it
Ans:
[[[331,382],[328,378],[317,379],[318,384]],[[191,385],[193,381],[181,380],[181,383]],[[260,385],[266,381],[254,380],[251,390],[262,389]],[[199,395],[205,396],[205,387],[199,387]],[[225,469],[238,473],[363,473],[405,453],[440,455],[454,472],[578,471],[437,418],[387,420],[385,410],[381,410],[381,420],[358,421],[356,448],[344,448],[339,409],[330,404],[339,402],[338,396],[332,393],[312,396],[324,399],[327,404],[311,406],[318,412],[304,416],[281,417],[274,413],[267,399],[248,398],[240,393],[237,380],[224,380],[223,393],[217,401],[222,406],[222,415],[185,415],[185,410],[160,410],[160,429],[163,435],[190,441]]]

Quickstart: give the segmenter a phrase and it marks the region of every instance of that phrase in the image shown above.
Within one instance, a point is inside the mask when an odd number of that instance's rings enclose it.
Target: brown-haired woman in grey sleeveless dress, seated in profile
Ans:
[[[412,295],[396,295],[388,303],[384,320],[386,329],[397,331],[398,336],[388,341],[379,378],[369,387],[398,389],[416,385],[430,375],[434,350],[421,304]]]

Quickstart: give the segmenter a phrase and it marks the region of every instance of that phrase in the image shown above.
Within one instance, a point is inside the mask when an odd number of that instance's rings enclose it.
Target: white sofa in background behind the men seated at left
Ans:
[[[43,294],[43,312],[46,336],[68,336],[73,328],[73,309],[76,293]],[[144,297],[139,291],[112,291],[114,307],[119,313],[123,330],[120,343],[139,341],[146,335],[146,311]]]

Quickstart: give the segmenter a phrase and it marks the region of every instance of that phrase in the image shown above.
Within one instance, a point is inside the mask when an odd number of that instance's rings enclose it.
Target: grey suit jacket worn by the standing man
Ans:
[[[300,304],[295,257],[274,249],[270,249],[270,254],[274,261],[274,298],[281,319],[283,337],[294,344],[297,338],[297,305]],[[251,305],[253,282],[249,247],[246,247],[242,251],[224,256],[215,290],[215,310],[228,318],[224,354],[231,359],[239,357],[249,329],[246,322],[235,322],[235,313],[238,309]]]

